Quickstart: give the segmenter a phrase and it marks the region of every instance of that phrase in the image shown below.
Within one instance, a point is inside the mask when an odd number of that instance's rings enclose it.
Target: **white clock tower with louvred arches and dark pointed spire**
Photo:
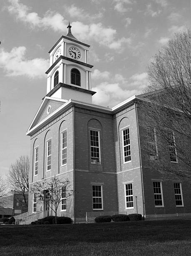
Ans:
[[[91,68],[88,63],[90,45],[78,41],[71,32],[61,36],[50,49],[50,68],[47,74],[48,97],[80,100],[92,103]]]

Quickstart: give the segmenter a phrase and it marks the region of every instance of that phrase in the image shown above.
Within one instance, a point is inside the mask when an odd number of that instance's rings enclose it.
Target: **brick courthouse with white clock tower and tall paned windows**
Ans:
[[[191,215],[190,182],[163,179],[144,158],[141,95],[113,108],[92,104],[96,92],[91,90],[89,49],[72,35],[69,24],[67,36],[49,51],[47,94],[27,131],[30,188],[42,179],[68,178],[74,194],[63,198],[58,215],[76,221],[85,220],[86,212]],[[157,135],[154,144],[158,154]],[[172,151],[166,154],[180,168]],[[45,207],[29,194],[28,214]]]

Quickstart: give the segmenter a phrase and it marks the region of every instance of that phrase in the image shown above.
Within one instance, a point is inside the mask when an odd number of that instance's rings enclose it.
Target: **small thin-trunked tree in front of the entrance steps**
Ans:
[[[51,179],[36,182],[30,192],[35,194],[36,201],[39,203],[44,203],[48,199],[50,209],[55,212],[55,224],[57,224],[57,210],[60,202],[63,200],[63,204],[66,205],[66,200],[73,195],[73,190],[70,188],[71,184],[68,179],[62,181],[54,176]]]

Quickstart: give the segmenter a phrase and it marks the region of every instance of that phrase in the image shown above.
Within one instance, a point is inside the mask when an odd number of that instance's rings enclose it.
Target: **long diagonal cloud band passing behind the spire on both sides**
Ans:
[[[8,0],[10,5],[7,7],[11,14],[14,14],[18,20],[23,21],[31,28],[53,29],[54,31],[66,31],[67,23],[60,13],[47,11],[43,18],[38,13],[30,13],[30,8],[23,5],[19,0]],[[127,0],[123,0],[127,1]],[[75,6],[74,6],[75,8]],[[73,22],[73,34],[79,40],[94,40],[100,45],[107,46],[110,49],[119,49],[123,44],[129,44],[130,38],[119,38],[116,40],[116,29],[104,27],[102,23],[83,24],[79,21]]]

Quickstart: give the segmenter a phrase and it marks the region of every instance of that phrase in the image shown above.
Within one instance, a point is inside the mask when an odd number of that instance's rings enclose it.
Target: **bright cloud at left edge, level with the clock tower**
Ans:
[[[45,77],[45,71],[49,67],[49,61],[46,59],[25,58],[26,47],[19,46],[13,48],[10,52],[0,50],[0,67],[4,69],[8,76],[22,76],[29,78]]]

